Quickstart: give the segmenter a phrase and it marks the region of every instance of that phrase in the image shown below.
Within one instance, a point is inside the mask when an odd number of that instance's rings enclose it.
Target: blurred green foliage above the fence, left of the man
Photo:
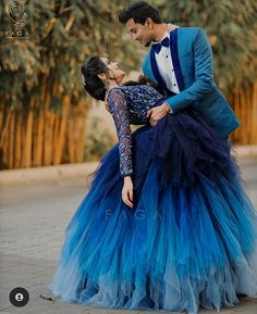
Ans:
[[[13,28],[3,10],[8,4],[3,1],[1,7],[1,30]],[[134,43],[127,45],[118,22],[120,1],[30,0],[24,9],[29,39],[1,38],[0,96],[5,105],[29,105],[25,98],[44,93],[44,78],[47,92],[52,96],[58,88],[57,97],[70,95],[76,103],[85,96],[81,65],[93,54],[122,61],[125,70],[137,67]]]

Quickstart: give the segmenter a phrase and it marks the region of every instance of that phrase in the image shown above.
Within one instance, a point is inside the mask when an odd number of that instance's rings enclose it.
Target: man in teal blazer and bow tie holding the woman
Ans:
[[[134,40],[145,47],[151,45],[142,68],[167,96],[163,104],[148,111],[151,125],[168,113],[191,106],[203,113],[224,138],[240,126],[213,80],[212,51],[200,27],[171,27],[146,1],[124,9],[119,21]]]

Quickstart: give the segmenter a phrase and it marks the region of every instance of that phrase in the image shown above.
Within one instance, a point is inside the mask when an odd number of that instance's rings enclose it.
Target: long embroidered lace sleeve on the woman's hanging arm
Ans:
[[[125,93],[119,88],[112,88],[108,95],[108,106],[119,137],[121,176],[132,175],[132,137]]]

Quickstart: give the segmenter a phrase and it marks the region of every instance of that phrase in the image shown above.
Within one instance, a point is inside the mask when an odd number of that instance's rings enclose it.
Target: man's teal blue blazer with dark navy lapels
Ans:
[[[213,79],[213,59],[208,37],[200,27],[180,27],[170,33],[171,58],[180,93],[172,95],[161,77],[150,49],[142,70],[168,97],[173,113],[192,106],[203,113],[224,138],[240,126],[233,110]]]

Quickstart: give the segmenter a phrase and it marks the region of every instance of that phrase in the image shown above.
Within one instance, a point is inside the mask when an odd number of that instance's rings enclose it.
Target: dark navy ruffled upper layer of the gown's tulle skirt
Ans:
[[[211,178],[217,172],[236,176],[230,143],[194,110],[169,114],[155,127],[147,125],[136,130],[132,139],[138,194],[152,161],[158,167],[160,181],[172,186],[192,186],[200,175]],[[136,148],[145,152],[144,159],[136,153]]]

